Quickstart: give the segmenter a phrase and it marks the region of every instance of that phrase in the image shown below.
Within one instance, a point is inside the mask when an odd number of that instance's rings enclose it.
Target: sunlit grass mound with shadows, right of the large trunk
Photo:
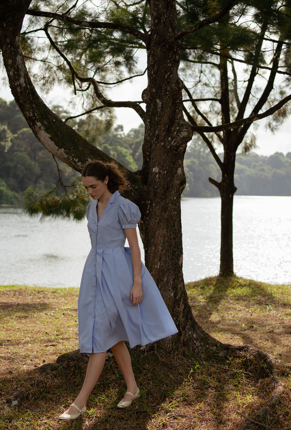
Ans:
[[[222,342],[252,344],[290,362],[288,286],[212,277],[189,283],[187,292],[195,318],[211,335]]]

